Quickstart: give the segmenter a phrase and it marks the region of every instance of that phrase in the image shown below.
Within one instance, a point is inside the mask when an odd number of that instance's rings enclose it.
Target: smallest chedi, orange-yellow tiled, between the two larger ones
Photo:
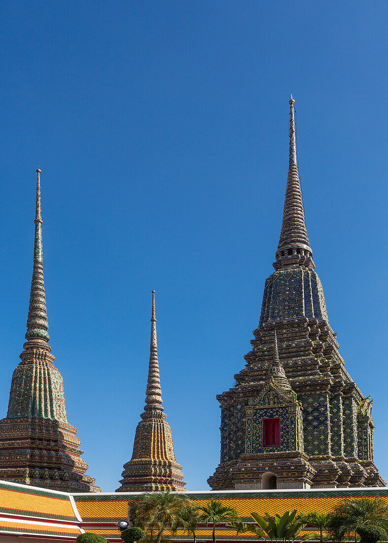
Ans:
[[[155,291],[152,291],[151,344],[144,413],[135,433],[132,458],[124,464],[116,492],[185,490],[182,466],[175,460],[173,436],[162,407],[157,359]]]

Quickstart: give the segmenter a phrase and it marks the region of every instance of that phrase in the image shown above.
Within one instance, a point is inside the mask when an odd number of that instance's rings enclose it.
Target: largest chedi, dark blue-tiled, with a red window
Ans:
[[[372,401],[345,369],[314,271],[296,160],[294,100],[275,273],[236,386],[221,404],[221,462],[213,490],[381,487]]]

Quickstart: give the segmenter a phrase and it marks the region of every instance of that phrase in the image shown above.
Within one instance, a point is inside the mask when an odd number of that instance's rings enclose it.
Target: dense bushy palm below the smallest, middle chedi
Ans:
[[[167,492],[146,492],[139,496],[129,507],[129,516],[139,528],[153,533],[156,531],[155,543],[161,543],[163,532],[168,527],[174,527],[179,519],[180,510],[185,505],[187,497],[183,494]]]

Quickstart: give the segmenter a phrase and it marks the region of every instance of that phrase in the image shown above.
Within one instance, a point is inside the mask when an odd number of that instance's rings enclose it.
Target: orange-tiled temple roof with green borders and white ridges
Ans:
[[[128,518],[129,503],[140,493],[67,494],[42,490],[28,485],[0,482],[0,541],[10,534],[35,536],[39,539],[74,541],[82,532],[101,534],[118,542],[117,522]],[[234,507],[239,516],[251,520],[251,512],[259,515],[282,515],[296,509],[298,514],[329,513],[345,498],[381,497],[388,503],[387,488],[314,489],[314,490],[245,490],[187,492],[196,504],[211,497],[223,506]],[[308,528],[307,531],[314,531]],[[167,534],[168,535],[168,534]],[[212,526],[200,526],[199,541],[212,539]],[[217,540],[253,541],[253,534],[236,535],[236,531],[218,526]],[[319,534],[317,533],[317,538]],[[173,541],[189,541],[192,536],[179,530]]]

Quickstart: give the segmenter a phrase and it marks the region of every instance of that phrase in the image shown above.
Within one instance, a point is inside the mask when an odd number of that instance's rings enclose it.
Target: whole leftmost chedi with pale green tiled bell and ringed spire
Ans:
[[[0,420],[0,479],[66,492],[99,492],[67,421],[63,380],[48,344],[43,281],[40,169],[36,170],[34,268],[27,342],[12,375],[7,418]]]

